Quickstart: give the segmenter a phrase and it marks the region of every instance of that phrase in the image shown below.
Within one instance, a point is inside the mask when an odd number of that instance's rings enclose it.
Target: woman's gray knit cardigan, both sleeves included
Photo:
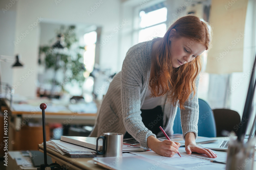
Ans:
[[[147,147],[147,137],[153,135],[145,127],[141,118],[141,107],[144,102],[151,69],[151,51],[153,41],[139,43],[131,47],[124,59],[122,71],[116,74],[99,110],[97,120],[90,136],[97,137],[106,132],[131,134],[141,146]],[[199,76],[196,79],[198,86]],[[167,96],[167,95],[166,95]],[[190,94],[181,110],[183,138],[188,132],[194,132],[197,138],[198,95]],[[177,104],[167,102],[162,106],[163,124],[167,135],[173,134],[173,122],[177,112]],[[157,127],[158,128],[158,127]]]

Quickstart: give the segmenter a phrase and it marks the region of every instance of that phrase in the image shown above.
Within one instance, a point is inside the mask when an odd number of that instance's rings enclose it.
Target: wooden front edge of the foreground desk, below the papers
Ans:
[[[44,146],[42,144],[38,144],[37,145],[37,149],[38,149],[38,151],[44,153]],[[76,169],[76,170],[81,170],[81,169],[84,169],[84,168],[86,168],[88,170],[95,170],[95,169],[102,170],[102,168],[100,166],[96,165],[96,164],[95,164],[95,167],[89,167],[89,166],[86,166],[84,164],[78,163],[77,161],[74,161],[74,163],[72,162],[72,164],[70,164],[70,163],[67,162],[67,160],[65,160],[65,158],[61,158],[60,156],[58,156],[58,154],[60,154],[60,153],[57,153],[56,151],[54,151],[54,150],[52,150],[50,148],[46,149],[46,154],[48,156],[50,156],[51,158],[53,158],[53,159],[55,159],[55,160],[65,164],[66,167],[69,166],[69,167],[71,167],[73,169]],[[67,157],[67,156],[64,156],[64,155],[61,155],[61,156]],[[78,159],[78,158],[70,158],[70,157],[67,157],[67,158],[69,158],[69,159]],[[83,158],[80,158],[80,159],[83,159]],[[84,158],[84,159],[92,160],[93,158]],[[74,166],[74,165],[76,165],[76,166]]]

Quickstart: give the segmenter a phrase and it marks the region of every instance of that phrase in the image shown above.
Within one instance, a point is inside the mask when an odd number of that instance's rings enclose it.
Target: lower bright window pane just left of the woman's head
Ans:
[[[166,24],[159,24],[139,31],[138,42],[152,40],[154,37],[163,37],[166,32]]]

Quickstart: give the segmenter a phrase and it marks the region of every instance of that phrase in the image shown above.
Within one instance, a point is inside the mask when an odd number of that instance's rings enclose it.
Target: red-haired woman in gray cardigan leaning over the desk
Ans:
[[[211,31],[205,21],[188,15],[176,20],[163,38],[131,47],[122,71],[115,75],[104,96],[91,136],[105,132],[131,135],[141,146],[172,157],[180,144],[159,141],[162,126],[173,134],[179,104],[186,152],[216,154],[196,145],[198,123],[197,86],[201,54],[210,48]]]

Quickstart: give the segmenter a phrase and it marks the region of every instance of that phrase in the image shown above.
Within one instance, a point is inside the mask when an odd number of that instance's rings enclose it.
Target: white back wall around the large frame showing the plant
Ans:
[[[37,80],[37,59],[39,50],[40,24],[38,22],[68,22],[85,23],[88,25],[102,26],[102,39],[113,32],[113,29],[119,25],[119,7],[118,0],[62,0],[56,4],[56,1],[17,1],[16,10],[16,29],[15,38],[24,36],[20,43],[14,47],[14,53],[22,55],[26,67],[13,72],[13,84],[19,83],[16,93],[23,96],[34,97],[36,94]],[[101,2],[101,4],[99,3]],[[95,4],[96,3],[96,4]],[[98,5],[98,6],[96,6]],[[88,14],[91,8],[92,13]],[[38,20],[38,18],[41,19]],[[37,24],[32,29],[31,24]],[[27,31],[28,34],[25,34]],[[3,34],[3,32],[1,33]],[[113,36],[100,51],[100,66],[102,68],[110,67],[116,70],[118,34]],[[110,60],[111,57],[111,60]],[[32,73],[31,71],[32,70]],[[30,74],[30,75],[29,75]],[[26,80],[25,80],[26,79]]]

